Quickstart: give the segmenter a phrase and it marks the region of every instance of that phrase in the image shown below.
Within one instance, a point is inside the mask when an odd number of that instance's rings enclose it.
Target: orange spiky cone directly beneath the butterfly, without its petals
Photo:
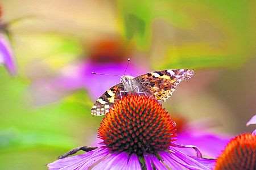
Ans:
[[[176,124],[152,97],[127,95],[102,119],[98,137],[110,151],[155,154],[175,141]]]

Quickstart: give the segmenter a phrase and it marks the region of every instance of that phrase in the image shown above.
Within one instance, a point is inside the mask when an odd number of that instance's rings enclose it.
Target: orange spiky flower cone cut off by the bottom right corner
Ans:
[[[241,134],[232,139],[220,157],[215,170],[255,170],[256,169],[256,135]]]

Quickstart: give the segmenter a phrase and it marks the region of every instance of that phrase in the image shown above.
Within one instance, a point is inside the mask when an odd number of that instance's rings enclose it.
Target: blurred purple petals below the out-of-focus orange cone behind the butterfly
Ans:
[[[119,76],[111,75],[123,75],[126,65],[127,61],[97,63],[88,59],[80,64],[66,67],[55,78],[35,79],[31,86],[31,94],[35,103],[39,105],[59,100],[64,95],[80,89],[87,90],[89,96],[95,100],[120,82]],[[136,76],[145,73],[146,70],[136,63],[130,63],[126,74]],[[92,71],[111,75],[95,75]]]

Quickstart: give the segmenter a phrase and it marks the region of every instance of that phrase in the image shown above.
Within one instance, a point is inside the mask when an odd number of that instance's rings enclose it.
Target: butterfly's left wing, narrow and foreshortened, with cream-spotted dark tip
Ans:
[[[114,102],[121,99],[121,91],[124,91],[124,87],[122,83],[119,83],[101,95],[90,109],[92,115],[102,116],[108,113]]]

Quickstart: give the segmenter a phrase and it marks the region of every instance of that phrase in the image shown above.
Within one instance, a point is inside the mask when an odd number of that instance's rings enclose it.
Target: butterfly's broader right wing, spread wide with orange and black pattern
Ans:
[[[139,92],[151,94],[156,100],[166,101],[175,91],[177,84],[192,76],[193,70],[170,69],[139,75],[134,78],[134,81],[140,86]]]

